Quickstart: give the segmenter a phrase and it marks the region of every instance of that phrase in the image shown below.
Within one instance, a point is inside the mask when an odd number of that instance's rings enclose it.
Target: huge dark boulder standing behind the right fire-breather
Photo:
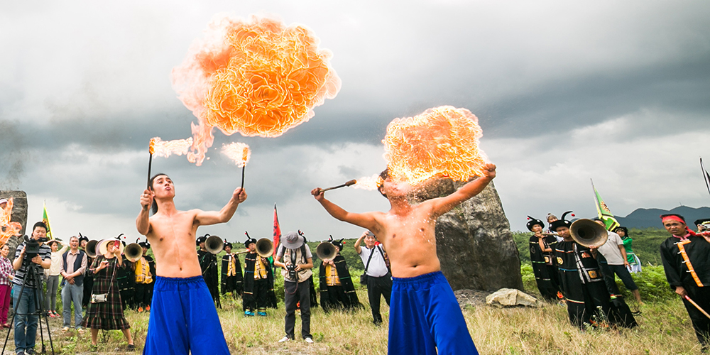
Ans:
[[[439,179],[417,190],[413,202],[446,196],[464,182]],[[493,182],[437,219],[437,254],[454,290],[523,290],[520,257]]]

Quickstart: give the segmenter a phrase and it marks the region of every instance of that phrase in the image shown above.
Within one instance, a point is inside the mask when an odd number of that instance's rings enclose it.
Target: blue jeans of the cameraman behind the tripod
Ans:
[[[35,349],[35,338],[37,337],[37,315],[29,315],[37,310],[35,302],[38,302],[40,293],[35,288],[26,287],[20,296],[21,285],[13,285],[13,305],[15,306],[15,352]],[[19,299],[18,299],[19,298]]]

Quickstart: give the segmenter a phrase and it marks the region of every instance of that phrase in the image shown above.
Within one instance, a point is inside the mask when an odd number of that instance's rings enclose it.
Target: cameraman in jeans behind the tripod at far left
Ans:
[[[16,354],[33,354],[37,337],[38,315],[35,314],[37,311],[35,303],[36,299],[41,297],[42,285],[35,285],[35,280],[31,278],[25,280],[28,267],[38,265],[42,268],[49,268],[52,265],[52,250],[43,243],[47,240],[47,226],[43,222],[35,223],[31,238],[33,240],[23,241],[17,246],[15,260],[12,262],[12,268],[15,269],[15,278],[12,279],[14,284],[12,293],[13,305],[16,307],[14,324]],[[28,245],[30,249],[28,249]],[[31,251],[33,248],[35,251]],[[26,253],[26,251],[30,251],[30,253]],[[40,275],[40,271],[36,272]],[[25,289],[20,298],[23,283]]]

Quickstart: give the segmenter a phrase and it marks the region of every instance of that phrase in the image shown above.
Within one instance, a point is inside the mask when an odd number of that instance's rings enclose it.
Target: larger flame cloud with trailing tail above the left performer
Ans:
[[[173,68],[173,88],[199,119],[190,162],[200,165],[212,146],[212,128],[224,134],[277,137],[308,121],[313,108],[333,99],[340,79],[332,53],[305,26],[251,16],[209,23],[185,61]]]

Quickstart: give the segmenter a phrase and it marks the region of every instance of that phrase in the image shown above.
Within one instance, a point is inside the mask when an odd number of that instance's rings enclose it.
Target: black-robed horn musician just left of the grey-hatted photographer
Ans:
[[[244,242],[249,253],[244,257],[244,293],[242,308],[245,316],[266,317],[266,308],[275,308],[276,295],[273,291],[273,268],[268,258],[256,253],[256,239]]]

